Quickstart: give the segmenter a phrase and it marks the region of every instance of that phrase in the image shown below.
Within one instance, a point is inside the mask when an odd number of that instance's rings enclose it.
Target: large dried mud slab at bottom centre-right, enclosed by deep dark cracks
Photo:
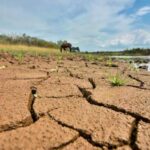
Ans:
[[[133,118],[102,107],[91,106],[85,99],[67,100],[50,116],[75,130],[82,130],[96,143],[122,145],[128,143]]]

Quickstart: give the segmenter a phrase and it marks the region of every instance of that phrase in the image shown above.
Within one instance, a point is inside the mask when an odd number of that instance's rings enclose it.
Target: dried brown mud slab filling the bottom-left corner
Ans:
[[[44,117],[26,128],[0,133],[0,145],[3,150],[49,150],[61,148],[77,137],[77,132]]]

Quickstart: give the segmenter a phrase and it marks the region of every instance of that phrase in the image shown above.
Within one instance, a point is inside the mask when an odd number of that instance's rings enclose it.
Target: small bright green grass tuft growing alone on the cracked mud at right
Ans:
[[[109,82],[112,86],[123,86],[126,83],[126,80],[123,76],[116,74],[109,78]]]

